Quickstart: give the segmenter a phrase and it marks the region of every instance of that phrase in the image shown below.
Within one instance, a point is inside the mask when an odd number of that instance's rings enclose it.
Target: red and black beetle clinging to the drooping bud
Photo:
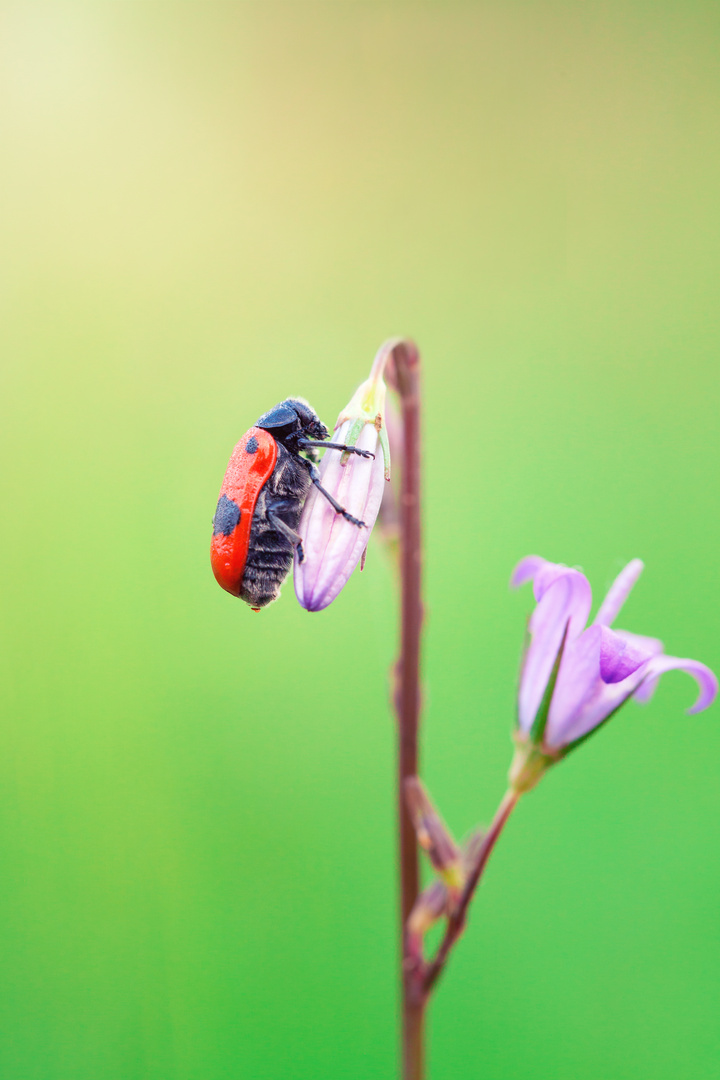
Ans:
[[[210,563],[218,584],[255,611],[279,596],[296,550],[303,559],[297,529],[311,484],[336,513],[365,528],[320,483],[317,448],[375,457],[328,442],[327,428],[302,397],[264,413],[232,451],[213,517]]]

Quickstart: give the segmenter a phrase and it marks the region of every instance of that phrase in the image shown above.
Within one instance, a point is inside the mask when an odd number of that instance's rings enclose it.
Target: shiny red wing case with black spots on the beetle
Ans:
[[[250,440],[255,441],[257,449],[248,451]],[[217,583],[233,596],[240,596],[255,504],[276,461],[277,443],[270,432],[250,428],[235,446],[228,463],[220,498],[225,495],[237,505],[240,521],[228,536],[225,532],[213,536],[210,563]]]

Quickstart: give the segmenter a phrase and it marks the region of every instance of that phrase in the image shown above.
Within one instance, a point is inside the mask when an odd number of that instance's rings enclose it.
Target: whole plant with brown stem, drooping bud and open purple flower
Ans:
[[[388,407],[386,386],[397,395],[399,416]],[[367,536],[390,480],[391,443],[396,465],[402,463],[399,492],[391,489],[381,524],[398,555],[400,579],[393,704],[398,747],[402,1077],[424,1080],[427,1001],[465,929],[480,878],[520,797],[631,697],[648,700],[664,672],[679,669],[696,680],[699,694],[691,713],[712,702],[718,680],[696,660],[665,654],[656,638],[611,629],[642,571],[640,559],[622,570],[588,625],[592,590],[585,576],[536,555],[526,557],[511,583],[532,581],[536,606],[528,622],[520,670],[508,787],[487,832],[476,831],[457,843],[419,778],[424,615],[420,356],[411,341],[396,338],[380,348],[368,378],[338,417],[334,442],[343,445],[328,447],[315,480],[323,481],[325,496],[329,491],[332,498],[322,499],[323,492],[312,491],[299,525],[304,556],[296,554],[295,588],[309,611],[327,607],[358,563],[362,567]],[[344,446],[357,446],[368,455],[355,457]],[[435,875],[422,891],[420,848]],[[425,935],[440,920],[445,921],[440,944],[427,959]]]

